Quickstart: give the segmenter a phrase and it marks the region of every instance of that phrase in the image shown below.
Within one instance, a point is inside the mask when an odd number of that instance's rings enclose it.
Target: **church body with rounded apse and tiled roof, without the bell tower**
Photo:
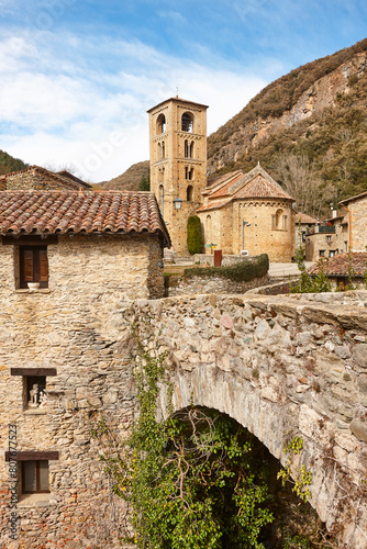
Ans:
[[[248,173],[215,178],[197,210],[207,254],[268,254],[270,261],[291,261],[294,255],[294,200],[258,164]]]

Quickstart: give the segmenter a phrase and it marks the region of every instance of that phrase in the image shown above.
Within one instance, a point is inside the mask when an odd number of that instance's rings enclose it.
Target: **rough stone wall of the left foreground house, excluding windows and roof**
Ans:
[[[130,355],[121,340],[130,300],[149,298],[158,268],[157,240],[59,236],[49,245],[49,289],[16,290],[14,247],[0,246],[0,546],[79,549],[115,547],[124,509],[111,493],[91,427],[102,413],[119,436],[133,416]],[[163,281],[163,276],[162,276]],[[160,283],[163,289],[163,282]],[[56,369],[46,378],[44,407],[25,407],[25,376],[11,369]],[[57,451],[49,460],[51,494],[19,494],[16,541],[8,538],[8,425],[16,425],[18,451]],[[20,477],[20,464],[18,475]],[[20,482],[18,483],[20,492]],[[112,498],[113,500],[113,498]]]

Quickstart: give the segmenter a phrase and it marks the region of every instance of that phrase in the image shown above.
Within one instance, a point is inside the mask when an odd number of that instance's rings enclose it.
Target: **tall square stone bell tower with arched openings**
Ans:
[[[188,254],[187,220],[196,215],[207,187],[207,109],[176,97],[147,111],[151,190],[180,256]]]

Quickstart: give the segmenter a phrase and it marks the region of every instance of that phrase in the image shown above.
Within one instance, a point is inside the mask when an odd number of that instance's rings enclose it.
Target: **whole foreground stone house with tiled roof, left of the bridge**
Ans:
[[[91,425],[132,417],[122,311],[163,296],[169,235],[153,193],[85,190],[0,192],[0,546],[100,547]]]

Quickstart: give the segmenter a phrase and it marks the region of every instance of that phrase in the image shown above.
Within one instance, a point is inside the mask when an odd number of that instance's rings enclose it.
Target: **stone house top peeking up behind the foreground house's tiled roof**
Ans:
[[[92,187],[66,170],[54,172],[41,166],[30,166],[21,171],[0,176],[0,191],[56,191],[60,189],[77,191],[80,188],[91,189]]]

